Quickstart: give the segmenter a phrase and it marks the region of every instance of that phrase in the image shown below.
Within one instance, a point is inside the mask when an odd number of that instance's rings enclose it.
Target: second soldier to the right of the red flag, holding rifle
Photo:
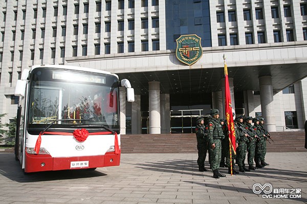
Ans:
[[[248,169],[249,170],[256,170],[254,167],[254,158],[255,158],[255,148],[256,148],[256,141],[257,141],[257,135],[255,134],[254,127],[252,125],[253,118],[248,116],[244,118],[245,121],[245,129],[247,130],[250,138],[247,143],[247,162],[248,162]]]

